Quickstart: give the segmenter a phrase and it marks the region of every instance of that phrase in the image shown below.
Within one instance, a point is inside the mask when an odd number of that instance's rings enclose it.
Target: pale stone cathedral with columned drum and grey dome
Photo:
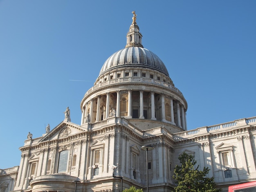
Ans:
[[[132,185],[170,192],[183,152],[209,167],[223,192],[256,181],[256,117],[187,130],[186,99],[143,47],[132,13],[124,49],[106,60],[81,100],[81,125],[67,107],[52,130],[29,133],[20,165],[0,170],[0,192],[121,192]]]

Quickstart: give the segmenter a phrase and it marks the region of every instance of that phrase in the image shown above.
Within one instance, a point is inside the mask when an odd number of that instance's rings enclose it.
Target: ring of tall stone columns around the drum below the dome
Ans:
[[[120,95],[121,92],[125,91],[128,93],[127,96],[127,100],[128,100],[128,105],[126,105],[126,118],[132,118],[132,92],[134,90],[131,89],[126,89],[126,90],[117,90],[117,96],[116,96],[116,110],[115,112],[111,112],[111,108],[110,108],[110,92],[106,92],[106,96],[103,95],[98,95],[97,96],[97,107],[94,106],[95,102],[93,102],[96,98],[91,98],[88,102],[84,103],[83,108],[82,108],[82,118],[81,118],[81,125],[83,125],[84,123],[94,123],[94,122],[98,122],[101,121],[101,115],[102,115],[102,110],[101,110],[101,97],[105,97],[106,98],[106,104],[104,103],[104,110],[103,110],[103,120],[110,117],[110,116],[120,116]],[[137,90],[138,91],[138,90]],[[113,93],[113,92],[112,92]],[[144,90],[139,90],[139,118],[140,119],[144,119]],[[159,93],[157,94],[159,95]],[[183,128],[184,130],[187,130],[186,127],[186,112],[184,109],[184,105],[182,105],[182,103],[178,100],[175,100],[175,104],[177,106],[174,107],[174,102],[173,102],[173,98],[171,96],[168,96],[166,94],[160,94],[160,98],[161,98],[161,104],[160,106],[155,106],[155,92],[151,91],[150,92],[150,104],[151,104],[151,110],[150,110],[150,114],[151,114],[151,120],[158,120],[158,121],[163,121],[163,122],[167,122],[167,123],[171,123],[173,125],[177,125],[178,127]],[[166,120],[166,100],[168,100],[168,103],[170,103],[170,115],[171,118]],[[96,111],[96,120],[94,118],[95,121],[92,120],[92,117],[95,117],[94,112],[93,112],[93,108],[96,107],[97,111]],[[159,112],[161,112],[161,118],[157,118],[155,116],[156,113],[156,107],[158,107],[158,109],[160,110]],[[175,109],[174,109],[175,108]],[[111,112],[111,113],[109,113]],[[89,114],[89,115],[88,115]]]

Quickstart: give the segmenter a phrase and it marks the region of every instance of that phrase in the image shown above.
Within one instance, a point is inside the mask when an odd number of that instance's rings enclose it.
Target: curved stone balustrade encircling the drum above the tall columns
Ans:
[[[85,93],[85,96],[90,94],[90,92],[95,91],[95,90],[100,89],[100,88],[105,87],[105,86],[115,85],[115,84],[120,84],[120,83],[136,83],[136,82],[137,83],[146,83],[146,84],[151,84],[151,85],[160,85],[160,86],[163,86],[163,87],[168,87],[169,89],[172,89],[173,91],[182,95],[182,92],[180,92],[179,89],[172,86],[171,84],[168,84],[168,83],[160,81],[160,80],[155,80],[155,79],[145,78],[145,77],[124,77],[124,78],[110,79],[110,80],[106,80],[104,82],[98,83],[97,85],[94,85],[93,87],[91,87]]]

